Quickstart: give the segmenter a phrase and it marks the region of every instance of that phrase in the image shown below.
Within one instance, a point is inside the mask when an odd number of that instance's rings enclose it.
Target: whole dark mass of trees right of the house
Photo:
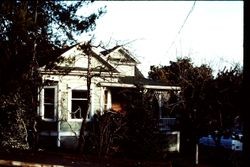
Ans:
[[[214,78],[209,66],[195,67],[190,58],[179,58],[169,66],[152,66],[149,78],[181,86],[178,108],[183,145],[194,144],[204,133],[217,130],[221,134],[234,127],[242,99],[242,71],[238,66],[220,71]]]

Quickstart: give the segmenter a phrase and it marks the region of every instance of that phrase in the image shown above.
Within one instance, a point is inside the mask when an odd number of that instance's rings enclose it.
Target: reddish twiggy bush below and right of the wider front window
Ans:
[[[97,113],[88,123],[85,152],[99,156],[113,156],[122,152],[120,143],[126,137],[125,115],[106,111]]]

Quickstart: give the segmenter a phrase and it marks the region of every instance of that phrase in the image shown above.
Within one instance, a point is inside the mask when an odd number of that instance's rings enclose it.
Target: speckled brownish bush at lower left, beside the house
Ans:
[[[27,150],[28,131],[24,120],[25,110],[19,96],[1,96],[0,100],[0,150]]]

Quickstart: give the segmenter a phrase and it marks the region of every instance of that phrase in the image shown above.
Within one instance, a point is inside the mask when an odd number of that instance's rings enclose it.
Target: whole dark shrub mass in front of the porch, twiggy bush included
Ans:
[[[96,115],[87,128],[85,149],[101,156],[165,158],[168,143],[159,131],[152,92],[123,90],[119,95],[125,96],[129,105],[123,113]]]

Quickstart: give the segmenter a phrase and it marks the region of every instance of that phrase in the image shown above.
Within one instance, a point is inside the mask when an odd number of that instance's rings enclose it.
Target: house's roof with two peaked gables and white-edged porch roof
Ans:
[[[163,82],[157,82],[150,79],[146,79],[143,74],[139,71],[139,69],[136,67],[136,64],[138,61],[129,53],[127,49],[125,49],[122,46],[115,46],[112,49],[99,52],[96,48],[91,48],[91,50],[88,50],[90,52],[86,53],[83,49],[79,49],[82,44],[79,43],[77,45],[65,48],[65,52],[61,54],[64,58],[72,58],[73,59],[73,66],[68,66],[67,64],[64,64],[64,62],[59,63],[57,68],[54,68],[54,70],[57,70],[57,72],[60,72],[60,70],[69,70],[69,72],[72,70],[73,75],[79,75],[79,71],[87,71],[86,62],[88,60],[87,54],[91,54],[92,59],[95,61],[95,65],[103,65],[104,68],[101,66],[100,69],[92,69],[92,71],[98,71],[98,72],[112,72],[112,73],[119,73],[119,71],[107,61],[107,57],[105,56],[111,56],[114,52],[120,52],[121,58],[124,56],[124,58],[127,58],[130,62],[133,62],[135,65],[135,74],[134,76],[125,76],[125,77],[118,77],[118,82],[100,82],[99,86],[107,86],[107,87],[126,87],[126,88],[136,88],[137,86],[143,86],[146,89],[157,89],[157,90],[180,90],[180,87],[178,86],[166,86]],[[114,53],[115,54],[115,53]],[[120,55],[119,55],[120,56]],[[106,59],[105,59],[105,58]],[[118,57],[119,58],[119,57]],[[80,61],[80,62],[78,62]],[[84,64],[85,63],[85,64]],[[84,66],[85,65],[85,66]],[[45,71],[46,72],[46,71]]]

